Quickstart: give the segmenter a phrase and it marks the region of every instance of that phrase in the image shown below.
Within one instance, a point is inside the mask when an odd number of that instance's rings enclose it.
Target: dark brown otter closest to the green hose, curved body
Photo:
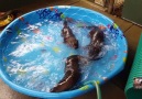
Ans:
[[[73,88],[80,78],[79,62],[83,56],[72,55],[67,57],[65,64],[65,76],[63,79],[51,90],[51,92],[61,92]],[[84,57],[83,57],[84,58]]]

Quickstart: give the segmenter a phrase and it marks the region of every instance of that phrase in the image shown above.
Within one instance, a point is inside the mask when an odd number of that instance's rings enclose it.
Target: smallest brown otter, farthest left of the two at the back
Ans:
[[[64,43],[73,48],[78,48],[78,41],[73,34],[72,29],[67,25],[67,21],[64,21],[64,28],[62,30],[62,36],[64,37]]]

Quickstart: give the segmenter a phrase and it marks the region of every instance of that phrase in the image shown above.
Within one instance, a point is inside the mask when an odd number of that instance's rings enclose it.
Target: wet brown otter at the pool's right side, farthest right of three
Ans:
[[[88,58],[89,59],[98,59],[99,54],[102,50],[102,45],[105,42],[105,34],[98,28],[94,26],[92,30],[89,32],[90,43],[88,45]]]

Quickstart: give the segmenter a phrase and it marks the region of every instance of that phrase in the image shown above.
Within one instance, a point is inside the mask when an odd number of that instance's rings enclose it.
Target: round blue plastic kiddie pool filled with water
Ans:
[[[63,43],[63,21],[79,41],[73,50]],[[86,55],[91,26],[105,33],[102,57],[81,68],[80,81],[68,91],[50,92],[64,76],[65,59]],[[120,73],[128,45],[119,26],[109,18],[85,8],[57,6],[29,12],[10,23],[0,34],[0,76],[12,89],[37,98],[74,98],[95,84],[105,84]]]

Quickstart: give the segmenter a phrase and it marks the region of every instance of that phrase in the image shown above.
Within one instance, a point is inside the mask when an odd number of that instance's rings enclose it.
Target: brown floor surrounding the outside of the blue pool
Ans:
[[[78,7],[84,7],[84,8],[88,8],[88,9],[101,12],[105,15],[111,18],[123,31],[129,45],[128,61],[125,63],[125,68],[123,72],[121,72],[109,82],[101,86],[101,90],[102,90],[102,99],[125,99],[123,88],[125,86],[128,75],[133,63],[133,58],[134,58],[139,38],[142,32],[142,28],[131,22],[110,15],[103,12],[102,8],[95,6],[86,0],[61,0],[61,1],[59,0],[39,0],[31,4],[21,7],[20,9],[25,13],[44,7],[63,6],[63,4],[78,6]],[[35,98],[15,92],[11,88],[9,88],[2,80],[0,80],[0,99],[35,99]],[[77,97],[75,99],[96,99],[96,90],[92,90],[89,94],[86,94],[81,97]]]

